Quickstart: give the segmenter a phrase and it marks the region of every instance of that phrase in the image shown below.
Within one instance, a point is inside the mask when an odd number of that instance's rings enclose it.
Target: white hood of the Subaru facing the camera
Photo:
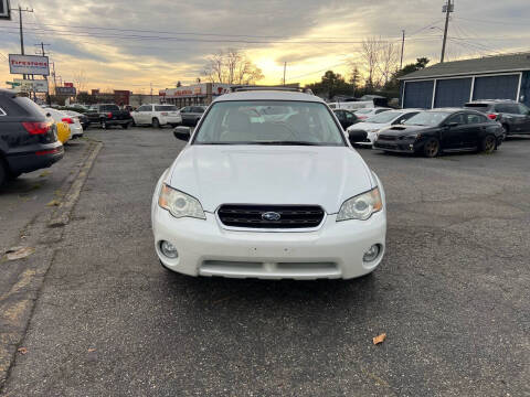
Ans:
[[[362,158],[348,147],[188,146],[167,183],[221,204],[318,204],[337,213],[346,198],[374,186]]]

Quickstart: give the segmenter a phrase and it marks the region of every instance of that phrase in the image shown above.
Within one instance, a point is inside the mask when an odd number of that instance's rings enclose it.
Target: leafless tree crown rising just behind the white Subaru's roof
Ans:
[[[264,77],[245,53],[234,49],[211,55],[203,75],[210,83],[223,84],[254,84]]]

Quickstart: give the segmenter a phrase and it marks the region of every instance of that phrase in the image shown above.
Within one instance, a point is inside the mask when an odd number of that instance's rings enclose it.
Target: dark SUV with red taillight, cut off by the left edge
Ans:
[[[29,98],[0,89],[0,186],[23,172],[52,165],[63,154],[55,125],[41,108]]]

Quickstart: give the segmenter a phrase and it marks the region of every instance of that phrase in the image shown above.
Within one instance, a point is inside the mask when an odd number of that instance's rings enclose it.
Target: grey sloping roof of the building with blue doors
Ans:
[[[530,71],[530,52],[445,62],[410,73],[399,79],[418,79],[486,73]]]

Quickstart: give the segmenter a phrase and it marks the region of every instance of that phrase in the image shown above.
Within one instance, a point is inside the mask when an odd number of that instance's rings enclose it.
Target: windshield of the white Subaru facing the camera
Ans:
[[[326,105],[295,100],[216,103],[194,143],[346,146]]]

